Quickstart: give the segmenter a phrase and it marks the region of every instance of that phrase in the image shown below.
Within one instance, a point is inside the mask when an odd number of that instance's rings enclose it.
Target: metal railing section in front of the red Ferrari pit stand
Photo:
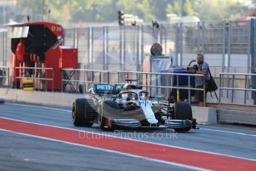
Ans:
[[[20,76],[16,76],[16,69],[23,69],[23,76],[20,77]],[[28,70],[28,69],[31,69],[33,71],[41,71],[41,76],[45,73],[45,77],[25,77],[25,70]],[[48,71],[51,71],[51,75],[52,77],[51,78],[48,78]],[[33,74],[36,74],[37,73],[33,73]],[[39,75],[40,75],[39,74]],[[54,68],[34,68],[34,67],[15,67],[14,69],[14,79],[31,79],[33,81],[35,80],[42,80],[42,81],[45,81],[45,91],[48,91],[48,81],[51,81],[51,91],[53,92],[54,91]],[[36,85],[35,83],[33,83],[33,86],[34,88],[36,88]],[[41,84],[39,83],[39,91],[41,91]]]

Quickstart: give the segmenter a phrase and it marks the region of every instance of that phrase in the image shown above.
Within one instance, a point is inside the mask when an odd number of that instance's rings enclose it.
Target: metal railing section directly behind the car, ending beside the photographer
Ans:
[[[123,77],[121,78],[121,74],[123,74]],[[135,79],[130,79],[131,75],[135,74]],[[141,75],[142,77],[144,75],[144,78],[142,78],[142,83],[141,83]],[[173,86],[173,80],[170,80],[170,86],[159,86],[159,79],[161,80],[161,76],[163,75],[168,75],[168,76],[176,76],[176,86]],[[148,76],[150,76],[150,80],[148,79]],[[153,77],[155,76],[155,77]],[[159,77],[160,76],[160,77]],[[179,86],[179,77],[188,77],[188,86]],[[203,80],[203,87],[202,88],[193,88],[191,86],[191,77],[202,77]],[[142,86],[146,87],[147,89],[150,88],[150,93],[152,92],[152,88],[156,88],[156,92],[158,93],[159,88],[176,88],[177,90],[177,100],[179,100],[179,90],[188,90],[188,103],[191,103],[191,90],[193,91],[203,91],[203,104],[205,106],[206,100],[205,100],[205,77],[202,74],[176,74],[176,73],[152,73],[152,72],[138,72],[138,71],[118,71],[118,83],[124,83],[124,77],[127,78],[128,82],[129,80],[136,81],[136,86]],[[156,80],[151,80],[151,79],[156,79]],[[145,84],[143,83],[143,80]],[[138,83],[140,81],[140,83]],[[152,85],[152,82],[155,82],[156,85]],[[148,84],[150,82],[150,84]],[[168,96],[169,94],[167,94]]]

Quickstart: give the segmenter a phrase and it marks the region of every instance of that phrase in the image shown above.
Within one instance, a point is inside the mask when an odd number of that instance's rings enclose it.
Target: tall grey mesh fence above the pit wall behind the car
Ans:
[[[65,29],[64,45],[78,48],[79,68],[141,71],[143,59],[159,42],[163,54],[173,57],[174,67],[184,67],[196,54],[205,55],[214,77],[220,72],[250,73],[252,25],[242,22],[213,21],[153,25],[103,26]],[[253,44],[252,44],[253,45]],[[10,65],[10,39],[0,33],[0,62]],[[255,59],[253,57],[253,59]]]

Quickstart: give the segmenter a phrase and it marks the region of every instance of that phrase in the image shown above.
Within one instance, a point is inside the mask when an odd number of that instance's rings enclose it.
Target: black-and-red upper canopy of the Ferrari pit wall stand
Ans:
[[[13,54],[21,42],[25,51],[36,54],[44,61],[45,53],[51,47],[63,44],[63,28],[60,25],[48,22],[28,22],[24,24],[8,25],[8,38],[11,39],[11,50]]]

